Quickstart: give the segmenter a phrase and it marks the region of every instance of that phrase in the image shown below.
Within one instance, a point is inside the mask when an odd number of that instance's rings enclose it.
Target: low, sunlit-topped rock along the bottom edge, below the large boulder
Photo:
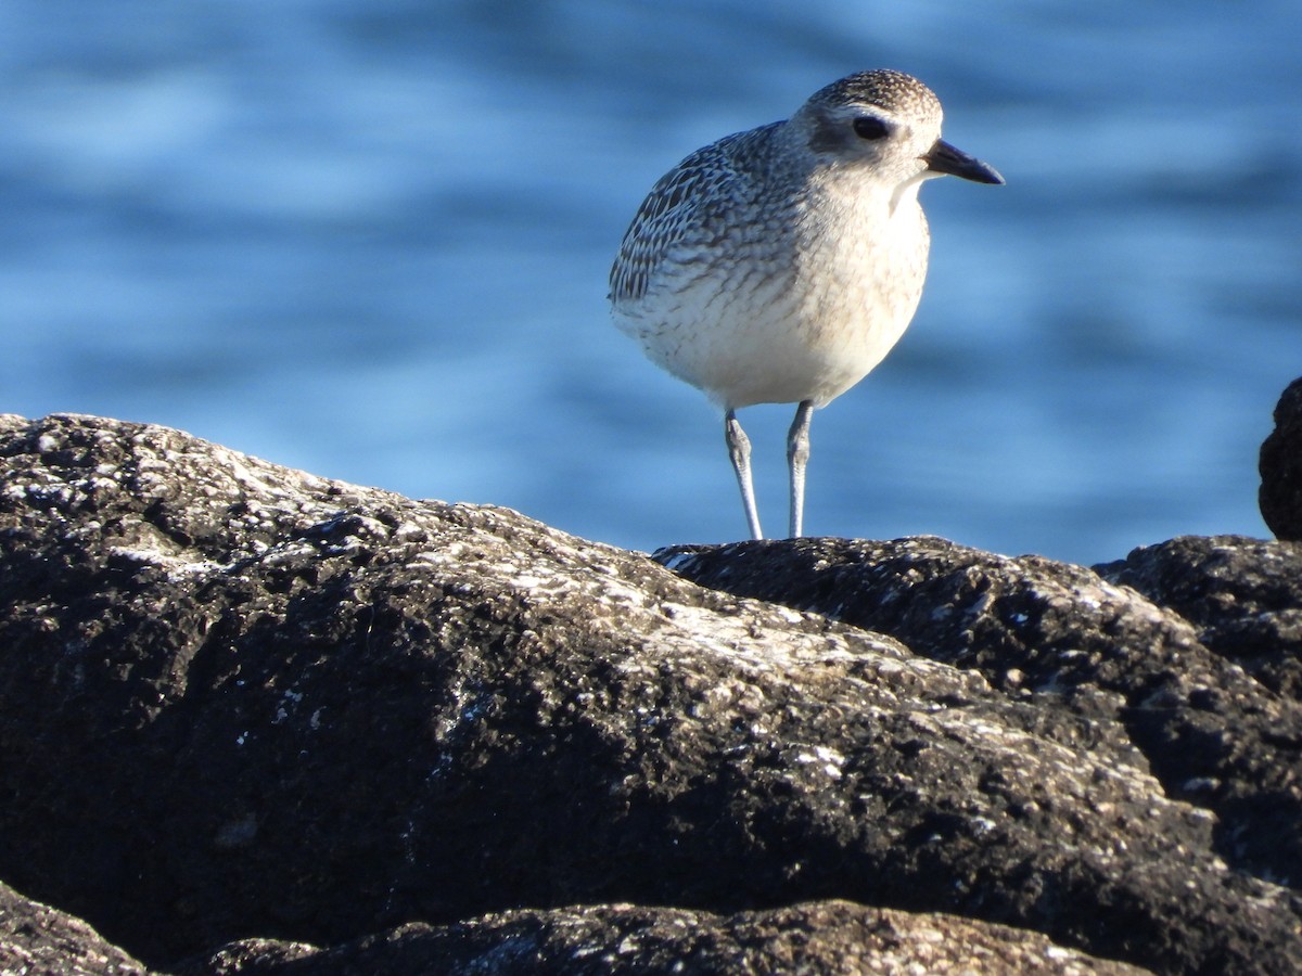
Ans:
[[[331,950],[238,942],[180,976],[259,973],[1139,973],[1040,934],[952,915],[814,902],[717,916],[682,908],[594,906],[513,911],[458,925],[405,925]]]

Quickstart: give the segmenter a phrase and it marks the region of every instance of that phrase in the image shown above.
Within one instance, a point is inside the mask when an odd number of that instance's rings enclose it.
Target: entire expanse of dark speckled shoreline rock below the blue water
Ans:
[[[671,571],[0,418],[0,877],[186,973],[1290,972],[1298,552]]]

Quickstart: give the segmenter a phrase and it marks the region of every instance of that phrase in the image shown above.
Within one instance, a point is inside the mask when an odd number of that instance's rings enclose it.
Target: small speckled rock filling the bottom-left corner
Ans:
[[[0,884],[0,973],[145,976],[145,967],[81,919]]]

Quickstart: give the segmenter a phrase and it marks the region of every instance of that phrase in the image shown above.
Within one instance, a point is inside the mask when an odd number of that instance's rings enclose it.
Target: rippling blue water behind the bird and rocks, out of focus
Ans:
[[[814,418],[807,531],[1092,562],[1266,535],[1302,373],[1302,4],[8,0],[0,410],[180,427],[641,549],[743,535],[721,423],[607,318],[665,169],[923,78],[896,351]],[[769,531],[789,407],[742,420]]]

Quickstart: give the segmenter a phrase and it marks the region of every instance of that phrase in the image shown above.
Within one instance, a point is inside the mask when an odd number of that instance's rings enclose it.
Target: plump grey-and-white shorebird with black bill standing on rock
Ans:
[[[796,403],[786,436],[790,537],[803,530],[810,420],[909,327],[931,234],[918,189],[945,174],[1003,183],[940,138],[910,74],[850,74],[790,118],[728,135],[665,173],[611,267],[616,327],[724,415],[750,535],[763,539],[737,410]]]

